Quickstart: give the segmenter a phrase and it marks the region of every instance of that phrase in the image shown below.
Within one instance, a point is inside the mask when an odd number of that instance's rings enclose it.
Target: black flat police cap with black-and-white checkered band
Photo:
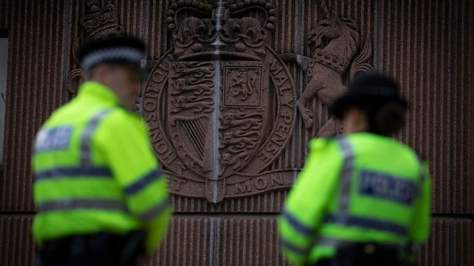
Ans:
[[[101,63],[127,65],[139,71],[145,53],[145,44],[131,36],[106,36],[86,41],[77,54],[87,71]]]

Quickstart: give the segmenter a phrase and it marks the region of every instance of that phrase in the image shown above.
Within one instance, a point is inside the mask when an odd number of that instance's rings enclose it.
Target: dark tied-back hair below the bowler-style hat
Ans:
[[[365,114],[369,123],[367,131],[391,136],[405,124],[406,107],[397,102],[376,102],[356,105]]]

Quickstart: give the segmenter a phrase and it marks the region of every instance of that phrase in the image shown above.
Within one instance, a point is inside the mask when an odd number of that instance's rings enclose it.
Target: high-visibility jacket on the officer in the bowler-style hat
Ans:
[[[316,139],[278,221],[280,248],[304,265],[341,244],[421,244],[430,199],[427,166],[404,144],[371,133]]]

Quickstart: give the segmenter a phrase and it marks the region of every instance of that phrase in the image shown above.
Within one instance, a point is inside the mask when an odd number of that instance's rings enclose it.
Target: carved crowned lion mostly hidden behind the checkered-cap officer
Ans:
[[[68,96],[74,97],[81,84],[85,81],[85,72],[80,68],[76,50],[84,39],[100,38],[125,33],[119,24],[119,16],[115,4],[107,4],[105,0],[86,0],[86,14],[80,20],[85,38],[78,37],[73,44],[73,66],[67,77]]]

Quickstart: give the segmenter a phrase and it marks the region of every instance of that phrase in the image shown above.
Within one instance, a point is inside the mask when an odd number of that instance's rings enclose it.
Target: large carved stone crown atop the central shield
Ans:
[[[170,6],[166,21],[178,60],[219,56],[262,61],[275,14],[268,0],[228,0],[221,5],[179,0]]]

